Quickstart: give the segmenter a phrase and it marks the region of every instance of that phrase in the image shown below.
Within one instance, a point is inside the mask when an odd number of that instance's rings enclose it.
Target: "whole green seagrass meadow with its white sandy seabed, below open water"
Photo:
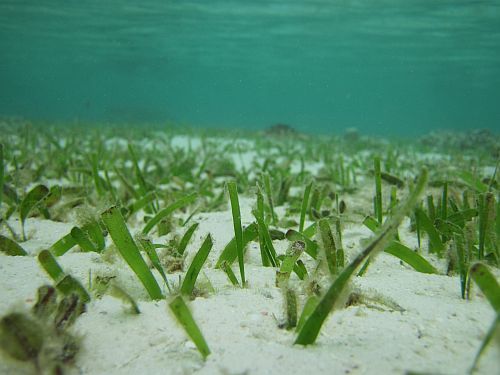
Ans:
[[[0,122],[1,374],[497,374],[500,140]]]

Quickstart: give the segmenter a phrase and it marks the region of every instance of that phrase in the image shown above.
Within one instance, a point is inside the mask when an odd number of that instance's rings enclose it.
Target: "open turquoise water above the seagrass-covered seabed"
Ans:
[[[500,129],[500,1],[0,0],[0,115]]]

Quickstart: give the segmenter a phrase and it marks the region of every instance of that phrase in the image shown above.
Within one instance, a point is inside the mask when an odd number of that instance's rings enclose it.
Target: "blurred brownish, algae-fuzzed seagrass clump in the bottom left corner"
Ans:
[[[63,374],[74,364],[79,339],[69,328],[85,311],[77,294],[58,298],[49,285],[38,288],[31,311],[12,312],[0,320],[0,349],[10,358],[31,362],[37,374]]]

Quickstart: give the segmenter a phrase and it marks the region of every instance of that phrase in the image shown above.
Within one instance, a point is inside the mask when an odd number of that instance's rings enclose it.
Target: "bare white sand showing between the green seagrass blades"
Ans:
[[[252,158],[254,155],[244,155]],[[239,156],[238,156],[239,158]],[[247,159],[248,161],[248,159]],[[246,164],[245,160],[241,161]],[[314,166],[316,168],[316,166]],[[372,194],[368,191],[367,194]],[[366,199],[369,198],[370,195]],[[241,198],[243,224],[252,221],[252,197]],[[356,202],[348,202],[356,207]],[[216,292],[190,303],[212,354],[206,361],[169,313],[166,301],[151,302],[135,274],[124,261],[104,262],[98,254],[77,248],[59,258],[63,269],[88,284],[89,271],[114,274],[118,283],[139,300],[141,314],[131,315],[123,303],[111,296],[93,299],[72,331],[82,338],[82,350],[70,373],[82,374],[402,374],[413,370],[433,374],[462,374],[470,368],[494,311],[477,288],[473,298],[460,298],[458,277],[427,275],[381,254],[353,289],[379,302],[368,302],[334,311],[315,345],[293,345],[295,333],[278,328],[283,312],[281,291],[275,287],[275,271],[260,265],[256,243],[246,258],[247,289],[234,288],[214,264],[233,236],[230,211],[196,215],[200,227],[187,249],[186,264],[207,233],[214,247],[200,274]],[[19,230],[19,222],[10,224]],[[0,315],[26,311],[34,303],[36,290],[51,280],[36,260],[36,254],[69,232],[76,223],[56,223],[31,218],[29,240],[22,246],[25,257],[0,254]],[[415,235],[401,228],[402,241],[414,246]],[[131,228],[139,231],[139,227]],[[3,233],[5,234],[5,233]],[[346,225],[344,246],[352,259],[369,237],[358,223]],[[155,238],[154,242],[164,240]],[[110,244],[107,238],[107,244]],[[275,241],[284,252],[287,241]],[[307,257],[307,256],[306,256]],[[426,256],[439,269],[444,261]],[[187,267],[186,267],[187,268]],[[237,273],[237,268],[234,268]],[[237,273],[238,274],[238,273]],[[161,278],[155,271],[158,282]],[[171,276],[175,281],[177,276]],[[292,275],[295,280],[296,276]],[[381,303],[385,300],[386,303]],[[391,308],[391,302],[404,311]],[[303,301],[301,301],[303,303]],[[498,346],[492,345],[480,362],[478,373],[500,374]],[[0,357],[0,374],[32,373],[32,367]]]

